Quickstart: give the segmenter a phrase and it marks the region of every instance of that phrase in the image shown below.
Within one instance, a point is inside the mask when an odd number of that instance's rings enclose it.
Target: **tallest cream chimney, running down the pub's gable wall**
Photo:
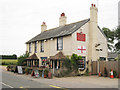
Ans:
[[[88,60],[89,72],[91,72],[92,61],[97,61],[99,54],[96,52],[96,45],[98,44],[98,9],[95,4],[90,7],[90,23],[89,23],[89,43],[88,43]]]

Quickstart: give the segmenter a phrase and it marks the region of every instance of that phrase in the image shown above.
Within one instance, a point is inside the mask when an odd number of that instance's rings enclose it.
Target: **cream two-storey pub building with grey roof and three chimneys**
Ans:
[[[28,66],[46,66],[59,69],[66,56],[73,53],[83,57],[79,67],[85,70],[91,62],[104,58],[107,60],[107,39],[98,26],[98,9],[95,4],[90,7],[90,18],[66,24],[67,17],[62,13],[59,26],[47,30],[45,22],[41,25],[41,33],[26,42]],[[88,65],[86,64],[87,62]]]

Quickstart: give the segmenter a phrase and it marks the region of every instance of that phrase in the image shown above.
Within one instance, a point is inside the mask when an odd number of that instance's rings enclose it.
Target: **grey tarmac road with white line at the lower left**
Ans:
[[[52,88],[48,84],[2,70],[2,88]]]

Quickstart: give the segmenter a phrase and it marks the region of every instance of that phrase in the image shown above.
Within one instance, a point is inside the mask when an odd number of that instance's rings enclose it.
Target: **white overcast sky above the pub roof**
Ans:
[[[114,29],[118,25],[118,1],[98,0],[98,25]],[[59,26],[62,12],[67,23],[90,17],[90,6],[97,0],[0,0],[0,54],[22,55],[25,42],[47,29]]]

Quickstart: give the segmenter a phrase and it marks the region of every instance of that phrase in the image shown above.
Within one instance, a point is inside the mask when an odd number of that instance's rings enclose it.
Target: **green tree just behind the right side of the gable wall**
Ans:
[[[109,28],[102,28],[102,31],[104,32],[104,34],[107,37],[108,40],[108,49],[110,51],[113,50],[113,44],[114,44],[114,37],[115,37],[115,32],[111,31]]]

